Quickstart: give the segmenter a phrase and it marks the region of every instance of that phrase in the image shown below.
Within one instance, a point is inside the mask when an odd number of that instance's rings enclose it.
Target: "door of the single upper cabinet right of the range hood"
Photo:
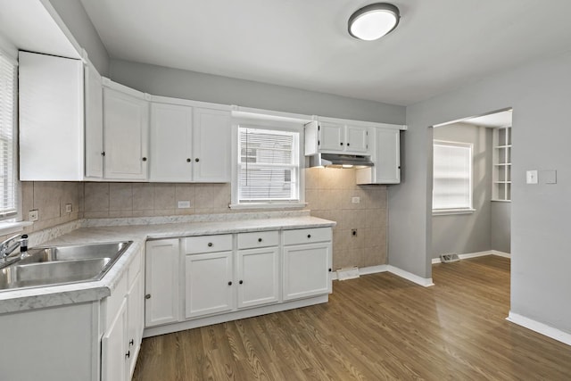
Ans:
[[[401,131],[377,128],[375,167],[378,184],[399,184],[401,182]]]

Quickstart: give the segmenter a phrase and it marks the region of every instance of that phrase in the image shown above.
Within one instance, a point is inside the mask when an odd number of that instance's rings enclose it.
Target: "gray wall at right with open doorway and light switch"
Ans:
[[[407,108],[406,177],[389,187],[389,263],[431,277],[429,126],[513,107],[511,311],[571,333],[571,53],[548,57]],[[526,185],[525,170],[558,170]]]

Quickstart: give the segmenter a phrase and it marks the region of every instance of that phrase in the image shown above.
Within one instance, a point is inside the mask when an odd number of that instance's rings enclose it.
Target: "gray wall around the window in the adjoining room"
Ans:
[[[431,258],[491,250],[492,128],[455,123],[434,128],[435,140],[471,143],[473,213],[432,217]]]

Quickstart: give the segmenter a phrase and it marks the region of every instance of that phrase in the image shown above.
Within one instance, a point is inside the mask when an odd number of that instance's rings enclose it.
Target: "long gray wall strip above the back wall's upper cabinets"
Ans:
[[[111,78],[149,94],[194,101],[395,124],[406,119],[404,106],[145,63],[112,60]]]

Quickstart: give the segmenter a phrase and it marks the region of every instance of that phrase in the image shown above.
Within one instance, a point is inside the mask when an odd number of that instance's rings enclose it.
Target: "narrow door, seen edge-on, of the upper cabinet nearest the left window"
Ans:
[[[93,65],[85,68],[86,178],[103,178],[103,85]]]

